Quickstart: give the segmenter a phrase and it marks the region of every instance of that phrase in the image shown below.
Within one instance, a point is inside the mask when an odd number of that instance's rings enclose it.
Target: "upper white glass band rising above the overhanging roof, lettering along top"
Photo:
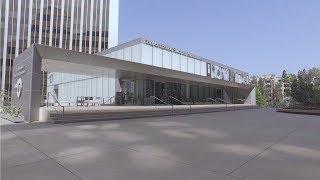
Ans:
[[[247,73],[142,38],[111,48],[101,55],[224,81],[249,84]]]

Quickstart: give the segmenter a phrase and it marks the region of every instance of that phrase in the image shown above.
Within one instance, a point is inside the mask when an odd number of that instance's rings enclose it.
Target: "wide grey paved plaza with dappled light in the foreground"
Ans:
[[[1,179],[320,179],[320,117],[251,109],[65,125],[1,120]]]

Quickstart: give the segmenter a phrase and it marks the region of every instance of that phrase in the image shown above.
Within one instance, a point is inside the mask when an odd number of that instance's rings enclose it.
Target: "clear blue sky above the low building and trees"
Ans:
[[[119,28],[252,75],[320,67],[320,0],[120,0]]]

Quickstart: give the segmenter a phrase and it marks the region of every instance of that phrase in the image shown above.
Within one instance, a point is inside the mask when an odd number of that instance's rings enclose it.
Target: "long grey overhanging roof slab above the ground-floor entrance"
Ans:
[[[83,52],[70,51],[66,49],[50,47],[46,45],[35,45],[39,55],[43,59],[50,59],[56,61],[63,61],[68,63],[76,63],[88,66],[106,67],[113,68],[117,70],[124,70],[129,72],[148,72],[145,74],[157,75],[162,77],[170,77],[176,79],[183,79],[188,81],[202,82],[207,84],[215,84],[220,86],[236,87],[242,89],[251,88],[250,85],[239,84],[230,81],[224,81],[219,79],[214,79],[211,77],[200,76],[195,74],[190,74],[186,72],[160,68],[155,66],[150,66],[146,64],[140,64],[130,61],[119,60],[115,58],[109,58],[105,56],[100,56],[96,54],[87,54]]]

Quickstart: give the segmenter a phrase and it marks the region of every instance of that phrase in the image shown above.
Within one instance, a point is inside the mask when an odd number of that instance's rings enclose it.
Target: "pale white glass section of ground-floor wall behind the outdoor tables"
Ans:
[[[47,91],[65,106],[80,105],[80,99],[97,104],[112,104],[118,83],[115,75],[114,70],[95,76],[49,72]],[[43,97],[43,100],[46,100],[46,97]],[[47,100],[48,103],[54,103],[51,96],[48,96]]]

